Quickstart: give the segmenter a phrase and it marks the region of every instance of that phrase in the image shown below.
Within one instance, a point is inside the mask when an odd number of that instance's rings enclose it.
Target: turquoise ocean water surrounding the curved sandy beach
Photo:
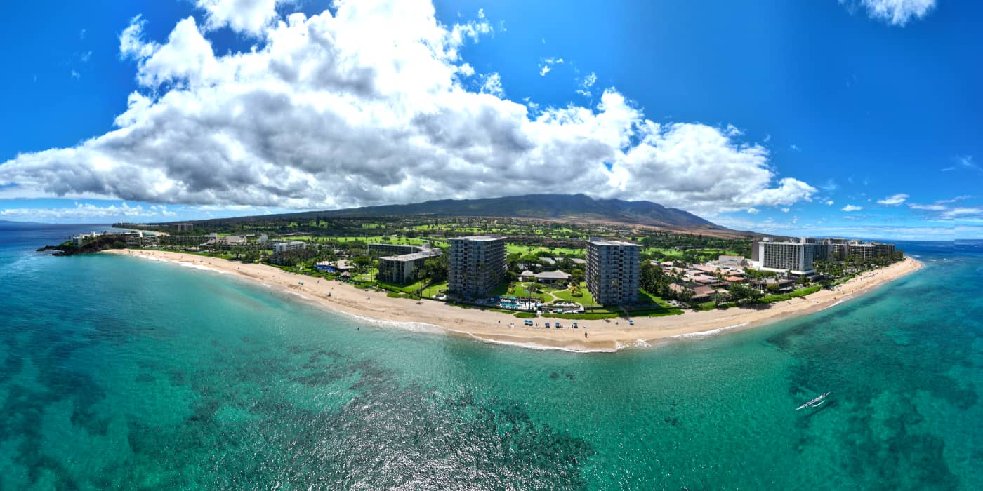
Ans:
[[[924,270],[813,316],[577,355],[32,251],[89,229],[0,230],[2,489],[983,487],[983,245],[902,244]]]

